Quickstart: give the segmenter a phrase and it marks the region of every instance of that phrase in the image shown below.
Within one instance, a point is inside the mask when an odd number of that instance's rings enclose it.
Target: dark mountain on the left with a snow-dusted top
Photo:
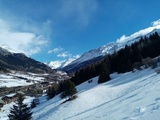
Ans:
[[[9,72],[10,70],[33,73],[53,72],[53,70],[44,63],[29,58],[23,53],[16,53],[5,48],[4,46],[3,48],[0,47],[0,72]]]

